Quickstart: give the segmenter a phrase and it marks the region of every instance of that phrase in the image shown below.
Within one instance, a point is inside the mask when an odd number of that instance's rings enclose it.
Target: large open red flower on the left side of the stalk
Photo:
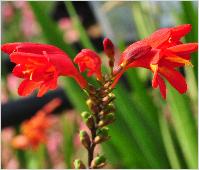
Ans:
[[[29,95],[37,88],[37,96],[43,96],[57,87],[59,76],[74,78],[81,88],[87,85],[68,55],[55,46],[19,42],[4,44],[1,49],[16,63],[13,74],[24,79],[18,88],[21,96]]]

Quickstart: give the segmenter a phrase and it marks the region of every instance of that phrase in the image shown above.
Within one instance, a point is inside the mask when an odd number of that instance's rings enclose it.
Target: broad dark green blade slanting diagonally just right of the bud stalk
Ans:
[[[169,167],[165,154],[163,152],[162,154],[158,154],[161,151],[157,148],[156,141],[150,134],[150,130],[144,126],[139,114],[136,113],[135,103],[131,102],[128,92],[118,84],[114,93],[117,96],[115,103],[119,106],[118,110],[123,113],[123,118],[131,129],[132,134],[135,136],[142,153],[145,155],[151,167]]]

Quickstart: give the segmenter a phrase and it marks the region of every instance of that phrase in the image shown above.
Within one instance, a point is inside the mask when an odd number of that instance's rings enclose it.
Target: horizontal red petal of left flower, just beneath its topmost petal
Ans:
[[[45,56],[32,53],[14,52],[10,54],[10,60],[16,64],[42,64],[45,65],[48,60]]]

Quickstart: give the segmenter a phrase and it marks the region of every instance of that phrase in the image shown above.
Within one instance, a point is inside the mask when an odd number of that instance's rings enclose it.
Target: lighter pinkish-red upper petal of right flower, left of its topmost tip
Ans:
[[[158,48],[163,43],[167,42],[171,35],[170,28],[162,28],[155,31],[151,34],[146,41],[151,45],[153,48]]]

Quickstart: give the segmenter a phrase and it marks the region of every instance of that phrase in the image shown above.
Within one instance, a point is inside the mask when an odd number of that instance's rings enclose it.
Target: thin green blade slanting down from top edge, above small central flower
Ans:
[[[80,42],[84,48],[90,48],[94,50],[94,46],[90,41],[90,38],[87,35],[86,30],[84,29],[79,16],[77,15],[75,8],[72,4],[72,1],[65,1],[66,9],[69,13],[70,19],[74,24],[75,29],[79,32]]]

